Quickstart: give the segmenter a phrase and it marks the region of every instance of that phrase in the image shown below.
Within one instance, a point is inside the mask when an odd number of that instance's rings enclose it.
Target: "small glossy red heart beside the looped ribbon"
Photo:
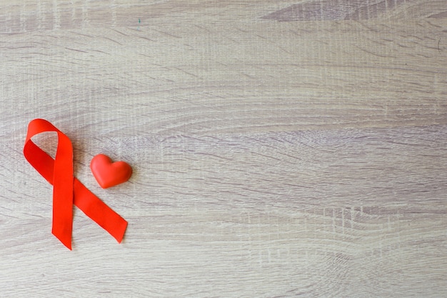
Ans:
[[[106,154],[98,154],[90,162],[90,169],[103,189],[129,180],[132,168],[126,162],[112,162]]]

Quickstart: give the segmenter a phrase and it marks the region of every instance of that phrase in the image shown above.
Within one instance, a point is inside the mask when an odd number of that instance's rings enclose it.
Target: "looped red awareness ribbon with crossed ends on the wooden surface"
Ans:
[[[59,138],[55,159],[31,141],[33,136],[44,131],[56,131]],[[73,204],[121,243],[127,222],[74,177],[73,147],[68,136],[49,121],[34,119],[29,122],[24,156],[34,169],[53,185],[51,232],[62,244],[71,250]]]

